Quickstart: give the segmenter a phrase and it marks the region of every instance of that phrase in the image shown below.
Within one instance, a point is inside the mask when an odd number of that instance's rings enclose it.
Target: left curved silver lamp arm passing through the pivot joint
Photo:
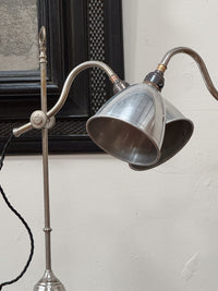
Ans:
[[[100,68],[102,71],[105,71],[106,74],[108,75],[108,77],[110,78],[111,83],[114,86],[117,86],[118,90],[119,90],[119,88],[124,88],[124,86],[125,86],[124,83],[119,78],[119,76],[106,63],[100,62],[100,61],[83,62],[83,63],[78,64],[77,66],[75,66],[70,72],[68,78],[64,82],[61,95],[60,95],[57,104],[47,112],[48,119],[50,119],[51,117],[55,117],[60,111],[60,109],[63,107],[63,105],[68,98],[71,85],[72,85],[73,81],[75,80],[75,77],[85,69],[93,68],[93,66]],[[24,124],[17,129],[14,129],[13,134],[14,134],[14,136],[19,137],[20,135],[32,130],[34,126],[32,125],[32,123],[28,122],[28,123],[26,123],[26,124]]]

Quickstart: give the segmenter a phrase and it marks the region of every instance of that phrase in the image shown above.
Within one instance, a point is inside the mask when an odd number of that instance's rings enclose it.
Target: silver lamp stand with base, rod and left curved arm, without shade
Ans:
[[[13,130],[13,135],[20,135],[28,132],[32,129],[41,130],[43,140],[43,168],[44,168],[44,206],[45,206],[45,257],[46,257],[46,271],[43,278],[35,284],[34,291],[64,291],[64,286],[53,275],[51,269],[51,226],[50,226],[50,204],[49,204],[49,171],[48,171],[48,130],[56,123],[55,116],[59,112],[65,102],[69,90],[74,78],[85,69],[97,66],[100,68],[108,75],[110,82],[113,84],[116,93],[129,86],[125,82],[121,81],[118,75],[104,62],[87,61],[78,64],[69,74],[60,98],[57,104],[48,111],[47,110],[47,56],[46,56],[46,29],[43,26],[39,32],[39,64],[40,64],[40,95],[41,95],[41,110],[36,110],[31,116],[31,121],[21,128]],[[130,159],[130,161],[132,161]]]

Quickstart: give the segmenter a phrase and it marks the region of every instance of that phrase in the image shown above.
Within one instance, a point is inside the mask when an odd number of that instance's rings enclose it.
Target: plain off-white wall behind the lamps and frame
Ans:
[[[218,78],[216,0],[123,0],[123,22],[129,82],[175,46],[197,50]],[[218,289],[218,105],[191,58],[169,66],[162,94],[195,123],[174,159],[134,172],[106,155],[50,157],[52,263],[66,290]],[[40,158],[8,157],[1,184],[36,240],[29,270],[5,290],[32,290],[45,268]],[[2,281],[23,267],[28,238],[3,202],[0,218]]]

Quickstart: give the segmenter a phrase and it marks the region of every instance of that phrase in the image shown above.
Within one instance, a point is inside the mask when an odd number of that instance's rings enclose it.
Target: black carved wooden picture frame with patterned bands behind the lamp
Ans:
[[[38,28],[47,32],[48,108],[60,96],[69,72],[86,60],[100,60],[124,77],[122,0],[38,0]],[[85,124],[112,95],[107,76],[89,69],[76,77],[66,104],[49,130],[49,153],[96,153]],[[40,76],[36,71],[0,71],[0,146],[12,129],[40,108]],[[33,130],[10,145],[10,154],[37,154],[40,131]]]

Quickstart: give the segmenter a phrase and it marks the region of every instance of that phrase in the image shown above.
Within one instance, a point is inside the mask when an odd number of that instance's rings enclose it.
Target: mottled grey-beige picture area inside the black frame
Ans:
[[[36,0],[1,0],[1,71],[38,69]]]

